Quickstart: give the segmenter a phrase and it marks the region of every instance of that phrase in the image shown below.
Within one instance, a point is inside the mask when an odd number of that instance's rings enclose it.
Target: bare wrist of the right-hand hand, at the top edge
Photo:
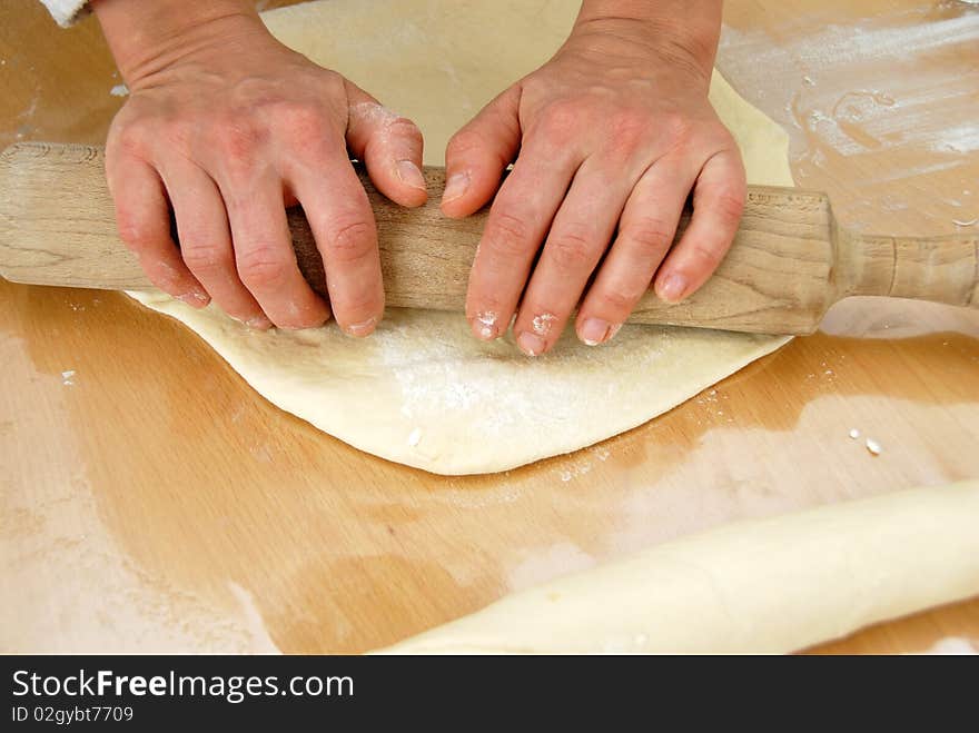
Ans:
[[[710,79],[721,38],[722,0],[584,0],[572,30],[592,42],[647,50]]]

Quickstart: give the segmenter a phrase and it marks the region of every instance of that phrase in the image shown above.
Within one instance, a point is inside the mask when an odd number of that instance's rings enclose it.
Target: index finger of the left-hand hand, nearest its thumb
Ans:
[[[322,165],[297,170],[290,184],[323,256],[334,317],[350,336],[367,336],[384,315],[374,212],[343,146],[322,156]]]

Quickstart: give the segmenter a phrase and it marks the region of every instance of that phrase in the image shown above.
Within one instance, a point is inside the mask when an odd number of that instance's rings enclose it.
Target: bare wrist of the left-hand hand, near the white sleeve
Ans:
[[[250,0],[92,0],[91,7],[130,88],[188,56],[247,48],[248,39],[268,36]]]

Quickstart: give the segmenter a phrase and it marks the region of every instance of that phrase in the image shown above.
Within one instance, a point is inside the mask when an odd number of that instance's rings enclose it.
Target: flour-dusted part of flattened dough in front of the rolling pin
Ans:
[[[457,314],[388,311],[370,338],[338,328],[249,331],[219,310],[132,294],[197,331],[283,409],[354,447],[439,474],[505,470],[645,423],[787,337],[626,326],[607,345],[573,333],[528,359],[485,345]]]

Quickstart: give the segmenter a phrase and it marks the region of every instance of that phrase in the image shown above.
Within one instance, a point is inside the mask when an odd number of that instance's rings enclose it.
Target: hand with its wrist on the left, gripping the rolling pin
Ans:
[[[107,140],[109,188],[120,236],[154,284],[196,307],[212,298],[254,328],[318,326],[332,309],[346,333],[373,331],[384,311],[377,234],[349,157],[384,195],[419,206],[418,128],[279,43],[250,3],[93,8],[130,90]],[[285,214],[296,201],[329,304],[296,265]]]

